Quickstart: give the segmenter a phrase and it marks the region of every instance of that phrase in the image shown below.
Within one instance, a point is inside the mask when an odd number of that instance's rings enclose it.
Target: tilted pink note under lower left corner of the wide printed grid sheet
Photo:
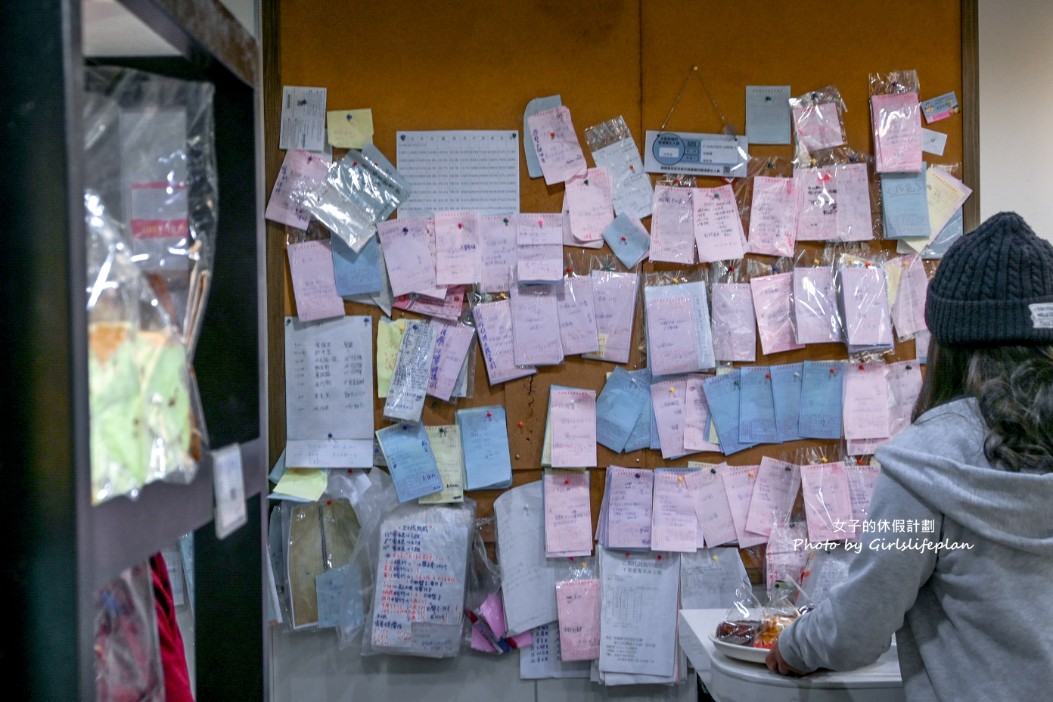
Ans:
[[[392,295],[411,293],[436,297],[445,295],[445,287],[435,284],[435,258],[432,255],[426,220],[420,218],[390,219],[377,225],[384,265]]]

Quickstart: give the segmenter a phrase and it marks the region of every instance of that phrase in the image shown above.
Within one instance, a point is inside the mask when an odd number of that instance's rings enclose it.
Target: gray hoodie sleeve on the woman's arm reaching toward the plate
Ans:
[[[940,534],[942,515],[913,497],[899,483],[881,476],[874,487],[869,519],[933,520],[935,531],[868,531],[853,561],[849,579],[830,591],[829,599],[801,616],[779,635],[779,653],[794,668],[851,670],[877,660],[888,650],[892,635],[903,624],[920,588],[936,564],[931,549],[888,550],[881,542],[921,541]]]

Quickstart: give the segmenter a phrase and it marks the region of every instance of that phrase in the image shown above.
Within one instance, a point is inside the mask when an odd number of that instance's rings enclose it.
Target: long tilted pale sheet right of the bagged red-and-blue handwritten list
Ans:
[[[541,481],[501,493],[494,500],[494,522],[509,634],[555,622],[556,582],[565,565],[544,556]]]

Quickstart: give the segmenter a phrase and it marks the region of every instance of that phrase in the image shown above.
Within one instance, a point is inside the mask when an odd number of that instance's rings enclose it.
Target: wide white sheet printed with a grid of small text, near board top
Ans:
[[[399,173],[413,188],[399,217],[519,212],[518,132],[398,132],[395,145]]]

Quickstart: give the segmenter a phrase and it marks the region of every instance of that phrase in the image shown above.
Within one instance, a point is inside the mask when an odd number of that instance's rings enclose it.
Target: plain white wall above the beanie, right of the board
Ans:
[[[979,0],[980,219],[1053,241],[1053,2]]]

